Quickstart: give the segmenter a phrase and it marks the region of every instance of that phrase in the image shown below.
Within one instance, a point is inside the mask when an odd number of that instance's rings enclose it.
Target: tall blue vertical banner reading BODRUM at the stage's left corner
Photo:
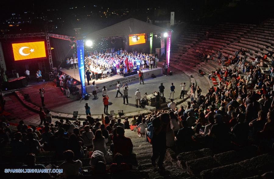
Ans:
[[[77,56],[79,65],[79,74],[82,87],[82,97],[86,95],[86,85],[85,85],[85,62],[84,62],[84,40],[76,40],[77,45]]]

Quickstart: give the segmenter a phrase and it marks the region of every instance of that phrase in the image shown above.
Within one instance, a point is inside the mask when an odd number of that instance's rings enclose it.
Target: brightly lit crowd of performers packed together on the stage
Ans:
[[[94,80],[112,75],[122,75],[140,69],[152,69],[157,67],[159,60],[153,54],[128,53],[126,50],[116,51],[113,54],[98,53],[85,57],[86,73],[91,74]]]

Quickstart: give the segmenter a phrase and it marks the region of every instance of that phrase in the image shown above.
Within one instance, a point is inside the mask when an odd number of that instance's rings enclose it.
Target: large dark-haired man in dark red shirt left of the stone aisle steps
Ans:
[[[121,153],[126,162],[129,161],[133,150],[131,139],[125,137],[125,130],[121,126],[117,126],[113,131],[112,141],[114,146],[111,146],[113,155]]]

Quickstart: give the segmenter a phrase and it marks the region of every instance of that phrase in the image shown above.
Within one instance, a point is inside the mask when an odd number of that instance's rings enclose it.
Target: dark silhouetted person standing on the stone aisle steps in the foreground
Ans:
[[[163,167],[163,160],[166,154],[166,132],[167,127],[170,127],[169,124],[170,116],[168,113],[163,113],[160,117],[156,117],[152,121],[153,125],[153,137],[152,137],[152,157],[151,163],[152,166],[156,167],[156,159],[158,159],[158,167],[160,170],[165,170]]]

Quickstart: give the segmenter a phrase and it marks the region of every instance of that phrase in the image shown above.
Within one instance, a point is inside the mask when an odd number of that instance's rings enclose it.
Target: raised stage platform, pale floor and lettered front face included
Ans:
[[[64,74],[69,75],[73,79],[80,82],[80,75],[79,75],[78,68],[77,69],[69,69],[69,70],[62,68],[59,70],[61,72],[63,72]],[[152,74],[154,74],[155,76],[162,75],[162,68],[157,67],[157,68],[153,68],[151,70],[149,70],[149,69],[143,70],[144,79],[151,78]],[[95,84],[98,87],[97,92],[102,91],[104,86],[107,88],[107,90],[115,89],[117,81],[120,81],[121,85],[123,85],[124,83],[128,83],[128,84],[136,83],[136,82],[139,82],[139,74],[135,74],[135,75],[127,76],[127,77],[123,77],[121,75],[114,75],[112,77],[102,78],[102,80],[99,79],[99,80],[95,81]],[[92,92],[91,85],[92,85],[92,81],[90,81],[90,85],[87,85],[87,81],[86,81],[86,91],[88,93]],[[80,93],[81,85],[78,85],[77,88],[79,88],[79,93]]]

